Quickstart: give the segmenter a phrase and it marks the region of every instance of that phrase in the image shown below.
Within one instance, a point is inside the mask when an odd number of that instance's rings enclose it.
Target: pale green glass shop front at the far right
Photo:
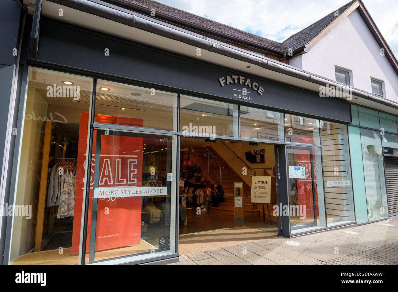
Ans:
[[[351,105],[348,127],[358,224],[398,213],[398,131],[396,116]],[[363,194],[366,194],[365,196]]]

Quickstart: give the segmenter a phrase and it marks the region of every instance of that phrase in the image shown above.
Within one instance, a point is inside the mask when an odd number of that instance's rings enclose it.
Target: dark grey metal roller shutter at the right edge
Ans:
[[[384,156],[388,213],[398,215],[398,157]]]

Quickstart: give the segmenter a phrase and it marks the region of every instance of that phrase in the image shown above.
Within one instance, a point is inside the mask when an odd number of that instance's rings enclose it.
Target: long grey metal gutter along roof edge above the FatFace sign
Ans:
[[[189,44],[191,46],[195,46],[197,48],[201,48],[209,52],[215,52],[217,54],[226,57],[234,58],[243,62],[248,62],[250,64],[260,66],[261,68],[289,75],[304,81],[309,81],[321,86],[329,86],[329,87],[334,86],[338,89],[343,89],[346,90],[347,92],[352,92],[352,94],[357,97],[361,97],[363,99],[377,102],[378,104],[383,104],[385,106],[398,109],[397,102],[389,101],[387,99],[383,99],[375,95],[371,95],[370,93],[361,91],[359,89],[341,85],[335,81],[330,81],[315,74],[304,72],[298,68],[291,67],[287,64],[273,62],[271,60],[268,60],[267,58],[262,58],[260,56],[254,56],[247,52],[242,52],[238,49],[230,48],[228,46],[216,43],[209,39],[203,39],[196,35],[191,35],[189,33],[179,31],[178,29],[162,25],[155,21],[144,19],[137,15],[126,13],[114,8],[110,8],[98,3],[91,2],[89,0],[47,0],[47,1],[60,4],[82,12],[86,12],[88,14],[93,14],[105,19],[109,19],[111,21],[115,21],[123,25],[128,25],[129,27],[141,29],[149,33],[154,33],[156,35],[160,35],[168,39],[173,39],[175,41]]]

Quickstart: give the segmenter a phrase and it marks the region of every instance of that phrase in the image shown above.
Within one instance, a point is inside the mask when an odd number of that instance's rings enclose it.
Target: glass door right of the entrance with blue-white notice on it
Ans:
[[[326,226],[321,151],[287,149],[291,233]]]

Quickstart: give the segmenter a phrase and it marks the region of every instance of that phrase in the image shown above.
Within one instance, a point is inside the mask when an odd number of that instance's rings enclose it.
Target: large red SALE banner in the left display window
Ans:
[[[127,126],[143,126],[143,120],[117,116],[95,115],[96,122]],[[72,233],[72,254],[77,254],[82,219],[83,188],[85,183],[86,141],[88,113],[80,114],[76,193]],[[90,248],[90,230],[94,188],[94,167],[100,163],[98,187],[142,187],[142,147],[140,137],[101,135],[100,161],[96,161],[96,134],[94,131],[91,158],[90,200],[86,252]],[[95,250],[105,250],[138,244],[141,237],[141,197],[103,197],[98,199]]]

